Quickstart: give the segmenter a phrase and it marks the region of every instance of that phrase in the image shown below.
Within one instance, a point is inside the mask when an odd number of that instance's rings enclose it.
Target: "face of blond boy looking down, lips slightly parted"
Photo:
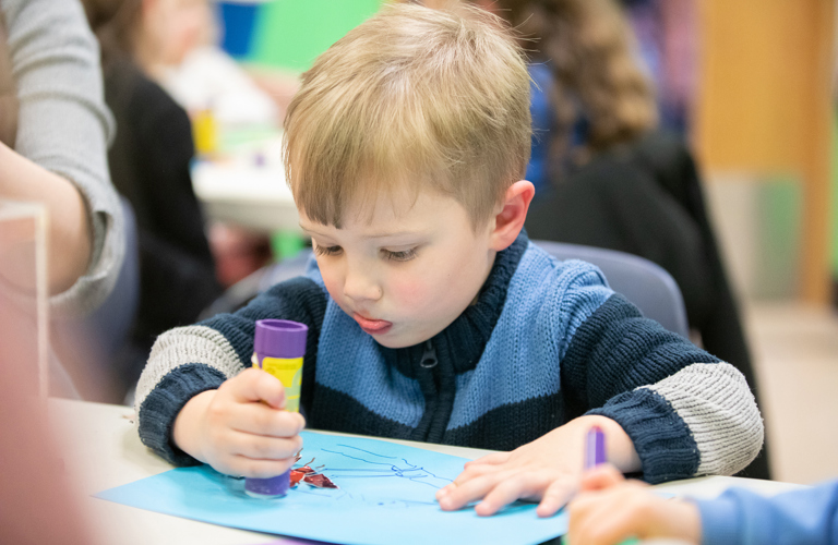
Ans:
[[[489,276],[493,219],[476,233],[466,209],[435,192],[416,202],[380,198],[371,221],[367,210],[348,210],[342,229],[300,210],[326,289],[379,343],[426,341],[466,310]]]

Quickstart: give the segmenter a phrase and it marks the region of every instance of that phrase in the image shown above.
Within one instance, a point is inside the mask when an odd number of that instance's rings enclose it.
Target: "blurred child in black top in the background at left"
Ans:
[[[105,96],[118,124],[110,172],[131,202],[140,245],[140,307],[120,355],[129,392],[160,332],[193,322],[219,293],[204,217],[192,189],[187,112],[151,75],[208,32],[201,0],[85,0],[103,48]]]

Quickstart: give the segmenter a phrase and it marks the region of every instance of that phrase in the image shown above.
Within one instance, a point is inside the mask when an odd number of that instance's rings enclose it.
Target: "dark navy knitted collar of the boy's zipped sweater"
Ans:
[[[522,229],[510,247],[498,253],[492,270],[480,289],[477,302],[469,305],[448,327],[430,339],[440,365],[452,366],[456,374],[475,368],[489,342],[506,302],[506,291],[528,238]],[[416,378],[428,341],[412,347],[391,349],[379,346],[384,360],[400,374]]]

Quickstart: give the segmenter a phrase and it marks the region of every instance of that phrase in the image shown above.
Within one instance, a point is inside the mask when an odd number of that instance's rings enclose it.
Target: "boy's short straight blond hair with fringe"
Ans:
[[[477,228],[523,178],[530,132],[525,57],[501,20],[393,4],[303,74],[285,166],[297,206],[320,223],[340,228],[381,192],[432,189]]]

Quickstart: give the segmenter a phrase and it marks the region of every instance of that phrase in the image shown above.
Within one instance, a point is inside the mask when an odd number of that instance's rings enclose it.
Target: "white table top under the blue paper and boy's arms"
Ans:
[[[49,400],[64,463],[75,476],[80,502],[103,544],[259,545],[280,538],[204,522],[160,514],[93,498],[98,492],[156,475],[171,465],[140,443],[133,410],[64,399]],[[394,440],[403,445],[475,459],[488,451]],[[730,486],[774,494],[800,485],[737,477],[703,477],[661,485],[674,494],[714,497]],[[295,543],[289,540],[288,543]]]

